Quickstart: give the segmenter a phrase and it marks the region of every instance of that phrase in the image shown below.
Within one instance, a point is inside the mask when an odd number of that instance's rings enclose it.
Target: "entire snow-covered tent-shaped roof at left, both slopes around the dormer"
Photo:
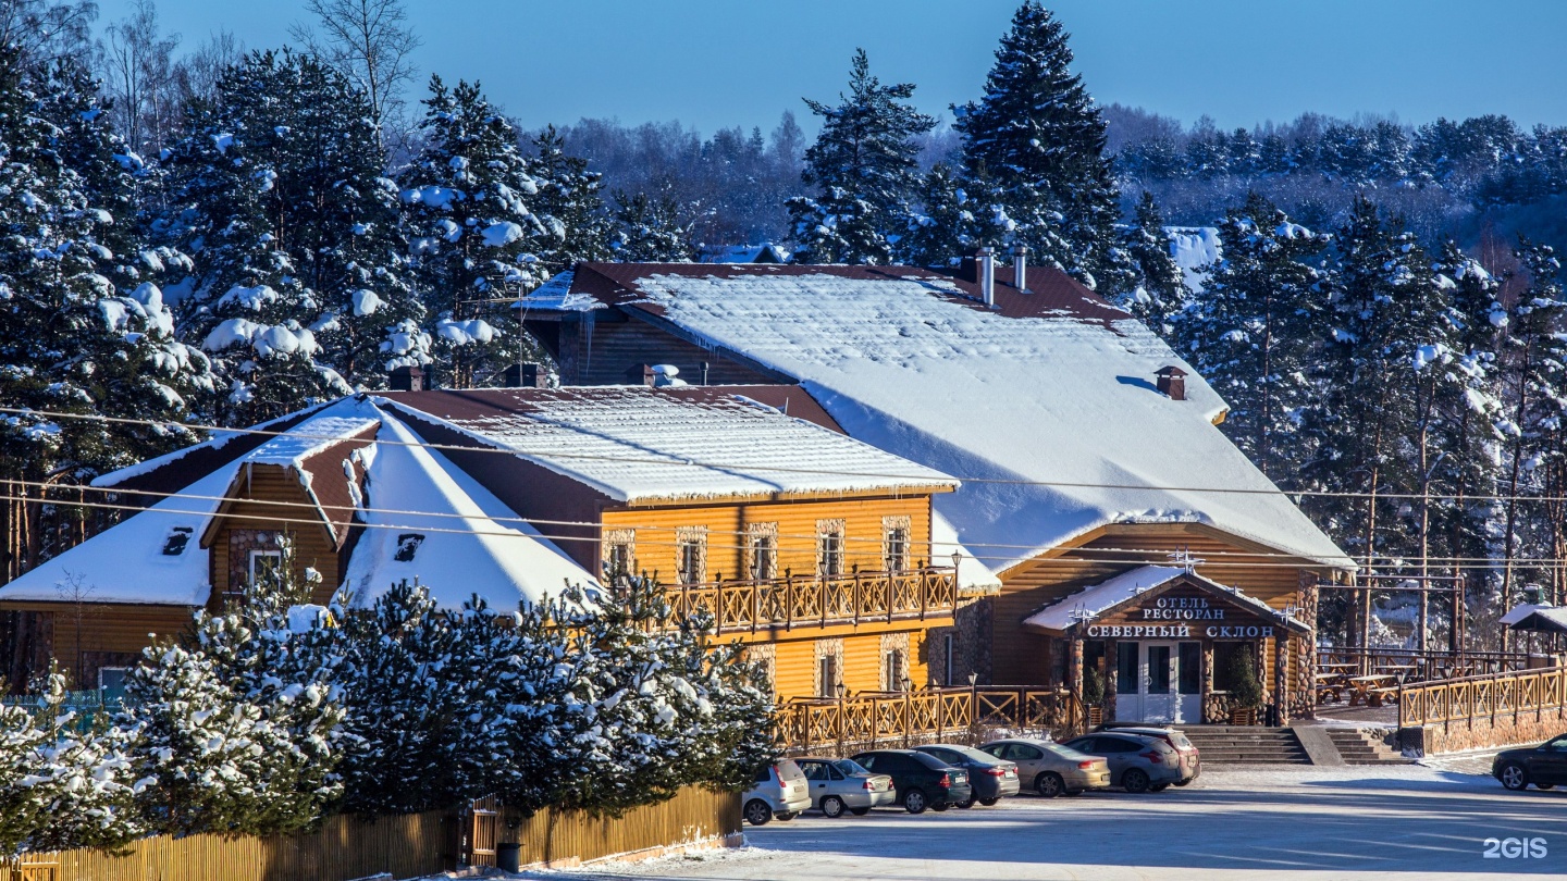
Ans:
[[[246,455],[201,475],[146,511],[0,586],[0,602],[94,602],[205,605],[212,593],[201,535],[248,462],[309,472],[312,456],[348,437],[367,466],[362,499],[331,499],[359,508],[365,530],[345,571],[353,602],[368,605],[393,582],[418,578],[447,608],[473,594],[497,608],[559,596],[566,582],[594,577],[553,542],[454,467],[395,417],[365,398],[342,398]],[[334,459],[335,462],[335,459]],[[342,464],[334,464],[342,473]],[[315,488],[307,486],[315,495]],[[362,502],[362,503],[360,503]],[[332,520],[346,520],[334,508]],[[418,538],[414,538],[418,536]],[[400,560],[400,550],[407,549]],[[80,591],[74,588],[80,585]]]

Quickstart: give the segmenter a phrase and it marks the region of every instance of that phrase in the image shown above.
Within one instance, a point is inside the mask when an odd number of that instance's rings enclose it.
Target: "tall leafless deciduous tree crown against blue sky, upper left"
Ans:
[[[321,31],[296,24],[288,33],[364,89],[376,133],[385,143],[387,121],[414,78],[411,56],[422,45],[407,24],[407,9],[401,0],[306,0],[306,9],[320,20]]]

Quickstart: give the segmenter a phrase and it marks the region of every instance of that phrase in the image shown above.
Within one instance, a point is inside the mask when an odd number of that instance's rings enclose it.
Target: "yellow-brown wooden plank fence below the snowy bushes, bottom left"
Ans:
[[[483,807],[480,810],[484,810]],[[506,809],[480,842],[480,810],[403,817],[331,817],[312,834],[157,836],[114,856],[96,850],[38,853],[6,865],[0,881],[346,881],[389,873],[417,878],[459,864],[494,865],[497,842],[520,842],[522,862],[575,862],[722,839],[740,831],[740,795],[689,787],[616,820],[567,810],[523,818]]]

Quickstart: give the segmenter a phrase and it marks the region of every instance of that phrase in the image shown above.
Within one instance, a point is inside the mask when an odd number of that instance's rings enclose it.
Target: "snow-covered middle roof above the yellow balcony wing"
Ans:
[[[946,491],[953,478],[718,387],[492,389],[381,398],[617,502]]]

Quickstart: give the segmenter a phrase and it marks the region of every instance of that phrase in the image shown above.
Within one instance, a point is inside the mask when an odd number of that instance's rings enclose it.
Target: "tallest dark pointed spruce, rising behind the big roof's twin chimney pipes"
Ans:
[[[1103,155],[1105,119],[1070,66],[1061,22],[1026,0],[1001,38],[984,97],[954,107],[953,127],[964,136],[965,168],[989,183],[1034,259],[1116,296],[1136,287],[1116,235],[1120,196]]]

